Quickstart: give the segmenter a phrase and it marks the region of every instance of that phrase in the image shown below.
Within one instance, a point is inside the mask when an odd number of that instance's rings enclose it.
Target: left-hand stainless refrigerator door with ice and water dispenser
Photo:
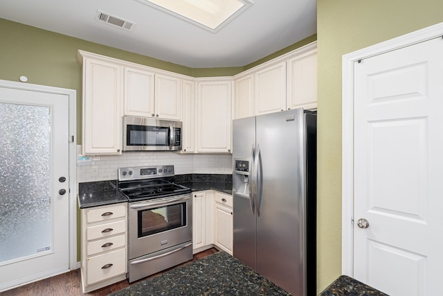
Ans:
[[[235,159],[251,161],[254,146],[255,117],[235,119],[233,121],[233,162]],[[233,254],[235,258],[255,269],[255,214],[251,209],[249,193],[244,190],[245,178],[249,181],[250,177],[248,173],[233,173]]]

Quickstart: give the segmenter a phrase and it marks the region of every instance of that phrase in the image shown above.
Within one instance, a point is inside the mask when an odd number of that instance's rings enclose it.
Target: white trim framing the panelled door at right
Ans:
[[[343,275],[354,276],[354,63],[436,37],[443,37],[443,23],[347,53],[342,57],[341,270]]]

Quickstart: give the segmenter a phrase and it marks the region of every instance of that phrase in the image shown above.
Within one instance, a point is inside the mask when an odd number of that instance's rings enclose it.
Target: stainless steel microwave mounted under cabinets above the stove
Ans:
[[[181,150],[181,121],[123,117],[123,151]]]

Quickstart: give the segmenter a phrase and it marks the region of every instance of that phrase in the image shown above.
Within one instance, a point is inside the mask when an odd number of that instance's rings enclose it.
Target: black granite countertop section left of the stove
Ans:
[[[127,202],[125,195],[116,189],[116,181],[79,183],[77,200],[80,209]]]

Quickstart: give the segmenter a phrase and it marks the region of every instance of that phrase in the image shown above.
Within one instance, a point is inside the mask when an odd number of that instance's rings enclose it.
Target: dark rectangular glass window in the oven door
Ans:
[[[186,226],[186,202],[138,211],[138,237]]]

